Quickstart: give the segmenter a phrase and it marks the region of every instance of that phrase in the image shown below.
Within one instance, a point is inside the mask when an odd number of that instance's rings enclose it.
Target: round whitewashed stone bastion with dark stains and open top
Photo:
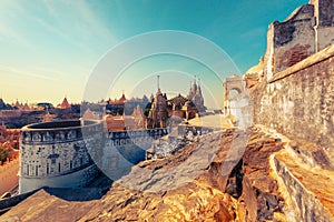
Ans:
[[[82,124],[82,125],[81,125]],[[91,155],[102,140],[98,121],[30,124],[21,130],[20,193],[42,186],[85,186],[98,170]],[[95,148],[95,150],[92,150]]]

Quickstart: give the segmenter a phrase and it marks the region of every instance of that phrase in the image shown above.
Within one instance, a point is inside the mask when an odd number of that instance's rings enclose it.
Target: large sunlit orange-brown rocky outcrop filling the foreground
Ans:
[[[269,173],[268,157],[281,149],[279,140],[255,128],[210,133],[171,157],[139,163],[127,176],[115,182],[101,200],[66,201],[40,190],[0,220],[277,219],[283,215],[284,201],[276,179]]]

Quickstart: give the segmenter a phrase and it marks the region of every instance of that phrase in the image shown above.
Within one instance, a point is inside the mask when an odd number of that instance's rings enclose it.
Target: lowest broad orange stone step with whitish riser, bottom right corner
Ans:
[[[334,172],[313,168],[291,149],[271,157],[291,221],[334,221]]]

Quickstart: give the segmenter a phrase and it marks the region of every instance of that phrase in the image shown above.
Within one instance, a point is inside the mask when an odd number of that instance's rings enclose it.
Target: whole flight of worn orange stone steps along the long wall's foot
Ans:
[[[285,148],[273,153],[269,163],[285,200],[286,220],[334,221],[334,171],[324,148],[259,128],[284,142]]]

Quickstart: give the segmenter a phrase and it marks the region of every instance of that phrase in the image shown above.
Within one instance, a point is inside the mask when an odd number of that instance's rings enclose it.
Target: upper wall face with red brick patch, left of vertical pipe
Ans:
[[[267,78],[315,52],[314,6],[296,9],[283,22],[275,21],[267,33],[265,72]]]

